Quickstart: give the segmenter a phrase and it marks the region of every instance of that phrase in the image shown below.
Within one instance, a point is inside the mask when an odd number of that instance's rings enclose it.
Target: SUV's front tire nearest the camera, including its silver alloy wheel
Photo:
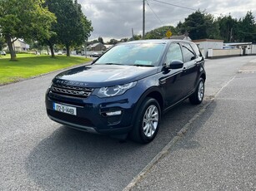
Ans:
[[[161,110],[158,101],[147,98],[139,107],[130,138],[138,143],[149,143],[158,133],[160,119]]]

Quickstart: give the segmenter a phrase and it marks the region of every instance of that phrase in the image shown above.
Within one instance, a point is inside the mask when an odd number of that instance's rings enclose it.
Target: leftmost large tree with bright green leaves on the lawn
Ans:
[[[0,1],[0,33],[2,33],[11,53],[11,61],[16,60],[13,43],[18,38],[39,40],[49,38],[50,27],[55,22],[52,12],[43,7],[44,0]]]

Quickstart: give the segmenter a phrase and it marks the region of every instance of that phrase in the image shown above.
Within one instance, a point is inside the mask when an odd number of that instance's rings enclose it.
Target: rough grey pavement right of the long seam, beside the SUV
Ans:
[[[124,190],[256,190],[254,66],[244,66],[178,144]]]

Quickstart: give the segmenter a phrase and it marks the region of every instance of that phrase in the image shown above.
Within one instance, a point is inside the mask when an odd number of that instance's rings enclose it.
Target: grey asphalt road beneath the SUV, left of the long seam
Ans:
[[[0,190],[122,190],[256,56],[206,62],[206,97],[163,116],[152,143],[120,143],[48,119],[44,94],[57,73],[0,87]],[[225,108],[228,110],[228,107]],[[208,112],[206,110],[205,112]]]

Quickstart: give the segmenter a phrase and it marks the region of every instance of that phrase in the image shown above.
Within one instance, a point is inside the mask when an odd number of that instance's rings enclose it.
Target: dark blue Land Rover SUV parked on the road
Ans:
[[[193,42],[118,44],[93,61],[55,76],[46,93],[49,118],[78,130],[148,143],[161,115],[204,95],[204,60]]]

